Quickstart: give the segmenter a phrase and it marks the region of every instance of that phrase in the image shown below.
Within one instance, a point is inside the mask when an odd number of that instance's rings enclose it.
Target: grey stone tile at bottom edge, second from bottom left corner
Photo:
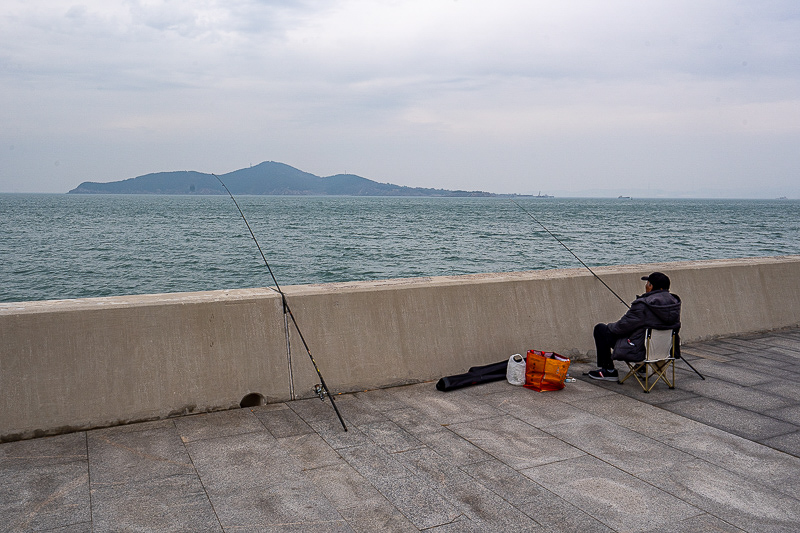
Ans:
[[[114,531],[222,531],[197,476],[92,485],[95,533]]]

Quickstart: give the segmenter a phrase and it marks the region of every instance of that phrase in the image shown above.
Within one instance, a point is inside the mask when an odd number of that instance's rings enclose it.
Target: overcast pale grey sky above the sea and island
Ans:
[[[4,0],[0,94],[0,192],[280,161],[800,197],[797,0]]]

